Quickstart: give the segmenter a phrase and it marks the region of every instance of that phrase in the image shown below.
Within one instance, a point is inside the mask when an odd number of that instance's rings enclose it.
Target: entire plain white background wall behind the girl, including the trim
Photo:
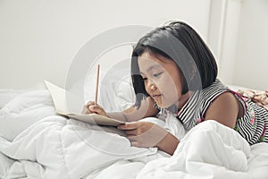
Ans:
[[[267,19],[267,0],[0,0],[0,88],[63,86],[73,57],[99,33],[179,20],[211,47],[224,83],[267,90]]]

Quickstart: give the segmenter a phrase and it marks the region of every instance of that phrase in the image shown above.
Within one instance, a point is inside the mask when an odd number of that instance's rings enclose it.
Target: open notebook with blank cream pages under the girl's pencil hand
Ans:
[[[98,125],[109,125],[109,126],[118,126],[120,124],[124,124],[124,122],[115,120],[113,118],[105,117],[103,115],[97,114],[89,114],[89,115],[81,115],[76,112],[70,112],[66,107],[66,96],[71,97],[71,99],[76,100],[80,98],[75,94],[71,93],[68,90],[64,90],[49,81],[45,81],[46,88],[49,90],[51,97],[54,102],[54,107],[56,113],[59,115],[63,115],[65,117],[80,120],[89,124],[98,124]]]

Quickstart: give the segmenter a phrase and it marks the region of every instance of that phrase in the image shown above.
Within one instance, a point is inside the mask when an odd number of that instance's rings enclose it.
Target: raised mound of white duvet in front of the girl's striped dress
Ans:
[[[249,153],[239,133],[213,120],[205,121],[186,134],[171,158],[149,162],[138,178],[251,178],[247,175]]]

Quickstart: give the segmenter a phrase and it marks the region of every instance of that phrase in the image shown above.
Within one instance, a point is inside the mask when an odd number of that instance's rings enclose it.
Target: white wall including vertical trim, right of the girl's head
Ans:
[[[210,27],[217,33],[214,52],[219,61],[219,76],[224,83],[256,90],[267,90],[268,82],[268,1],[215,0],[221,28]],[[211,23],[212,25],[213,23]]]

